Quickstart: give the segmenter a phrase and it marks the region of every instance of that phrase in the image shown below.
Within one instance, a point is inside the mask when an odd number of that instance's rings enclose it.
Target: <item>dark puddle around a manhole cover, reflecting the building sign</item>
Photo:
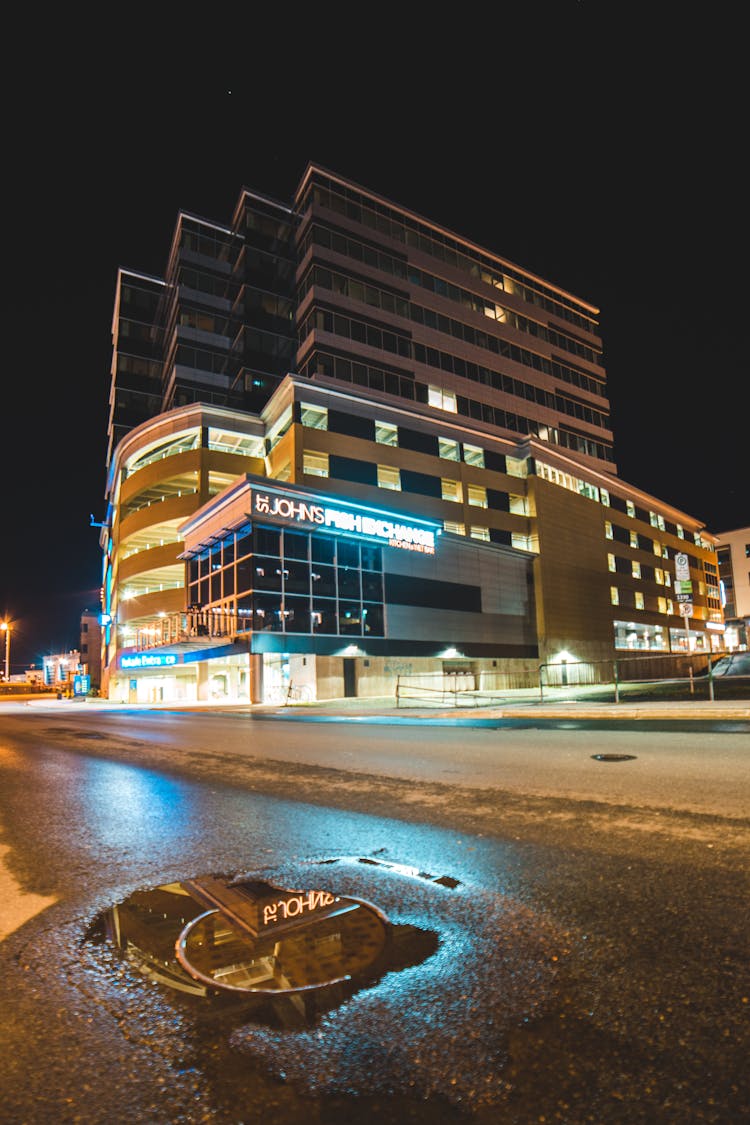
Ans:
[[[136,891],[89,937],[161,986],[275,1027],[305,1026],[437,948],[434,932],[362,899],[224,876]]]

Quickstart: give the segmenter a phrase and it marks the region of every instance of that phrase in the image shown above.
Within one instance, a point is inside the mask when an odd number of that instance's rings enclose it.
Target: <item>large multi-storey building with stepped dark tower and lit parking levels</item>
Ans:
[[[117,279],[105,693],[721,648],[714,538],[617,476],[597,317],[314,164],[289,205],[181,213],[164,277]],[[311,508],[340,524],[282,514]]]

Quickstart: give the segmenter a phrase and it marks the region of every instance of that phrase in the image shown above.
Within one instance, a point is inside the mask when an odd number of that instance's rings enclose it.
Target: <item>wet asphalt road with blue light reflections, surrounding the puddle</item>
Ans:
[[[6,705],[0,1119],[748,1119],[748,755],[741,723]],[[436,952],[291,1027],[94,939],[135,890],[207,872],[356,893]]]

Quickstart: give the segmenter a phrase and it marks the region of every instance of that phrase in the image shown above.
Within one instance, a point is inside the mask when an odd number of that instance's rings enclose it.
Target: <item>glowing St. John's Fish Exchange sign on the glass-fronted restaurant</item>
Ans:
[[[435,554],[436,529],[434,526],[401,523],[396,516],[347,511],[343,507],[332,507],[302,497],[286,496],[281,493],[253,489],[252,497],[253,514],[266,520],[295,523],[301,526],[325,528],[327,531],[374,539],[403,550],[421,551],[424,555]]]

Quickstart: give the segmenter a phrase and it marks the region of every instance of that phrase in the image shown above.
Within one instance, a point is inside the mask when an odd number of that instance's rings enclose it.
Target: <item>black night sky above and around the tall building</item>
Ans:
[[[744,63],[724,10],[706,28],[681,6],[557,0],[409,25],[385,6],[373,25],[334,6],[314,32],[218,3],[173,40],[184,9],[165,4],[163,27],[96,52],[88,26],[61,16],[39,42],[17,17],[11,670],[78,647],[98,609],[118,266],[161,274],[180,208],[225,222],[242,187],[290,200],[308,160],[597,305],[620,476],[710,531],[750,524]]]

